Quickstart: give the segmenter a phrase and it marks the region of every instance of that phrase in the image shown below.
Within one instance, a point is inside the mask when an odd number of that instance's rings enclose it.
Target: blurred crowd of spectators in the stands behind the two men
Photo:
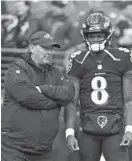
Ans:
[[[40,6],[44,10],[42,13],[41,9],[41,16],[36,16],[32,12],[35,10],[33,6],[36,5],[38,9],[38,3],[41,3]],[[83,3],[87,6],[79,7]],[[43,3],[14,1],[13,12],[10,12],[7,7],[8,1],[1,1],[1,45],[5,48],[27,48],[29,37],[36,31],[43,30],[49,32],[62,44],[62,50],[78,46],[83,43],[80,28],[86,15],[99,11],[108,15],[115,27],[112,45],[132,49],[132,2],[100,1],[98,3],[99,5],[95,7],[97,2],[94,0],[93,2],[43,1]]]

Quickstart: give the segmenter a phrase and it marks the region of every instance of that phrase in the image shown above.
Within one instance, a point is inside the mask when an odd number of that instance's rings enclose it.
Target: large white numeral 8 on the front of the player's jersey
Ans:
[[[106,91],[107,81],[102,76],[96,76],[91,81],[91,100],[97,105],[103,105],[107,102],[109,94]],[[99,97],[100,94],[100,97]]]

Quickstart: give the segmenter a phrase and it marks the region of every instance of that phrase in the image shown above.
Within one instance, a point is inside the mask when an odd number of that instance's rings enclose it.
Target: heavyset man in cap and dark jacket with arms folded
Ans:
[[[48,33],[38,31],[29,40],[27,54],[8,69],[2,109],[2,161],[52,160],[61,106],[74,96],[70,82],[50,63],[54,47],[60,45]]]

